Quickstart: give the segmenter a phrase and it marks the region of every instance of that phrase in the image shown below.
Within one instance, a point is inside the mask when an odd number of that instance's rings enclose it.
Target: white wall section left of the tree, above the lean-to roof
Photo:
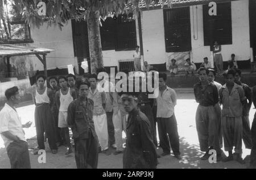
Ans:
[[[46,56],[47,69],[63,69],[69,64],[77,63],[74,57],[71,21],[65,24],[62,30],[58,26],[47,28],[47,23],[39,29],[31,28],[31,37],[35,41],[31,44],[32,46],[55,50]],[[38,58],[34,57],[33,60],[34,69],[43,70],[43,65]]]

